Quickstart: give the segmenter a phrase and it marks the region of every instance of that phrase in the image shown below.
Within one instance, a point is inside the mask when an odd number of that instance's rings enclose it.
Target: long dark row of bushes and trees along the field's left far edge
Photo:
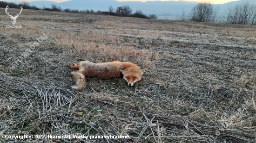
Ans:
[[[42,7],[42,8],[38,8],[36,6],[30,6],[30,4],[28,2],[22,2],[20,4],[15,4],[13,2],[5,2],[5,1],[0,1],[0,7],[7,7],[9,6],[9,8],[20,8],[20,6],[23,7],[23,9],[36,9],[36,10],[47,10],[47,11],[59,11],[59,12],[85,12],[85,13],[102,13],[105,15],[113,15],[113,16],[119,16],[117,13],[117,8],[114,10],[113,6],[109,6],[108,7],[108,12],[105,11],[97,11],[94,12],[94,10],[72,10],[69,8],[66,9],[61,9],[60,6],[56,6],[54,4],[52,4],[52,7]],[[136,12],[132,13],[132,9],[129,6],[121,6],[122,7],[122,12],[121,12],[121,16],[125,16],[125,17],[135,17],[135,18],[143,18],[143,19],[157,19],[157,16],[155,14],[151,14],[151,15],[145,15],[143,14],[143,12],[141,12],[141,10],[137,10]]]

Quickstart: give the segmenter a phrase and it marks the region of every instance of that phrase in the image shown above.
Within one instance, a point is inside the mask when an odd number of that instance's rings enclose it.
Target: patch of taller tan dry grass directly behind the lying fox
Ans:
[[[81,32],[62,32],[57,44],[72,56],[82,56],[85,60],[95,62],[135,62],[138,65],[152,67],[152,60],[158,59],[159,54],[149,50],[135,50],[133,46],[120,43],[120,37],[107,34]],[[71,46],[71,44],[73,46]]]

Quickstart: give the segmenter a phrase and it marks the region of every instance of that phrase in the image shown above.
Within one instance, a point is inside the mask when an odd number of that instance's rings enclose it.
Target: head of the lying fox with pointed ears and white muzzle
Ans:
[[[141,80],[141,75],[144,73],[146,68],[137,70],[132,68],[119,69],[123,74],[123,79],[128,82],[128,86],[133,86],[133,84],[137,81]]]

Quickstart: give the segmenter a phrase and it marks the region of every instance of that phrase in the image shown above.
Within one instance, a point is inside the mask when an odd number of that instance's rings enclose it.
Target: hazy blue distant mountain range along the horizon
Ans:
[[[13,0],[3,0],[7,2],[21,3],[22,1],[13,1]],[[223,13],[229,7],[235,6],[236,4],[241,4],[248,1],[249,3],[256,4],[256,0],[238,0],[232,1],[225,4],[213,4],[215,7],[218,7],[220,14]],[[198,2],[191,2],[185,0],[179,1],[117,1],[117,0],[69,0],[65,2],[54,2],[47,0],[39,0],[29,2],[31,6],[37,7],[51,7],[52,4],[56,6],[61,6],[62,9],[78,9],[78,10],[94,10],[94,11],[108,11],[108,6],[119,7],[128,5],[132,8],[133,12],[136,10],[141,10],[144,14],[156,14],[159,19],[174,19],[177,14],[181,14],[184,10],[187,14],[191,9],[198,4]]]

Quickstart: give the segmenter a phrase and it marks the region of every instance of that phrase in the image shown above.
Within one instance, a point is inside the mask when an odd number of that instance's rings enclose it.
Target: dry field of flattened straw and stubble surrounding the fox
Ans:
[[[256,143],[256,25],[23,9],[22,28],[7,28],[4,8],[0,19],[0,143]],[[72,91],[80,61],[148,69],[133,87],[87,77]]]

